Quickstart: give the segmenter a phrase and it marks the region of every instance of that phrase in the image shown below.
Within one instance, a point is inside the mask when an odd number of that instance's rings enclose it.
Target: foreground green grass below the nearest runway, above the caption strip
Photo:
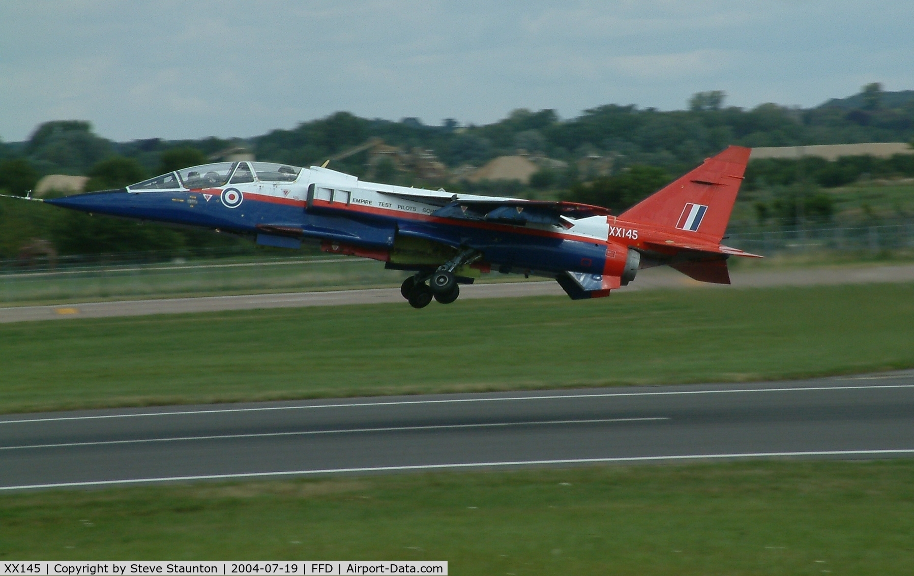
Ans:
[[[914,461],[0,496],[0,558],[449,560],[452,574],[911,574]]]

